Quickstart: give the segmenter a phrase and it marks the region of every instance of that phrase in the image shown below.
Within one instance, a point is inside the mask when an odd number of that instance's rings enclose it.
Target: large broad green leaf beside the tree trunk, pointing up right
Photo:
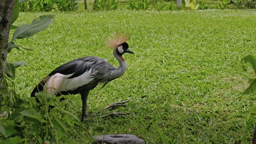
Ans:
[[[54,20],[53,14],[51,15],[45,15],[45,16],[40,16],[33,20],[31,24],[24,24],[20,27],[18,27],[15,31],[14,34],[12,35],[12,39],[10,41],[13,42],[15,38],[27,38],[30,36],[33,36],[34,34],[43,31],[46,29],[50,24],[52,24]]]

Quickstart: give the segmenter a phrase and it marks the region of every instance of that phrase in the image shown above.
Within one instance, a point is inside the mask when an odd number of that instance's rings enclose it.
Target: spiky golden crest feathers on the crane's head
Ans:
[[[119,44],[126,42],[128,39],[129,36],[127,34],[115,34],[112,39],[108,39],[106,46],[114,50]]]

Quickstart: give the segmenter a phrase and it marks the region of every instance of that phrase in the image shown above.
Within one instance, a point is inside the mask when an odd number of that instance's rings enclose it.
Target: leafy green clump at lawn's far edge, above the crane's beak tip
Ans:
[[[132,10],[149,10],[151,8],[150,0],[131,0],[130,7]]]

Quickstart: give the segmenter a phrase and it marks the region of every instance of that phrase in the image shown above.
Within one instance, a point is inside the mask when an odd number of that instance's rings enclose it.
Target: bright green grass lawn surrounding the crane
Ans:
[[[127,107],[112,111],[131,114],[91,116],[84,126],[92,135],[135,134],[147,144],[252,143],[255,120],[248,113],[256,96],[241,93],[253,70],[246,65],[244,71],[241,60],[256,56],[256,10],[81,9],[20,13],[15,24],[52,13],[57,15],[46,30],[15,41],[34,51],[8,55],[9,62],[30,64],[16,72],[16,89],[24,96],[54,68],[75,58],[99,56],[118,66],[105,42],[114,32],[128,33],[135,54],[124,55],[126,74],[90,91],[88,113],[130,100]],[[80,115],[82,102],[75,105],[74,113]],[[78,126],[68,127],[66,135],[74,144],[89,138]]]

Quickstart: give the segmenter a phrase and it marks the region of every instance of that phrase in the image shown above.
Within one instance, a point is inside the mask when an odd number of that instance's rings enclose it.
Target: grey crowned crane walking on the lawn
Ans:
[[[78,58],[53,70],[39,82],[32,91],[31,96],[35,96],[36,92],[44,90],[46,93],[56,96],[81,94],[81,121],[85,120],[88,116],[86,103],[89,91],[94,89],[99,83],[103,84],[103,88],[106,84],[125,73],[126,62],[122,55],[124,53],[134,54],[134,52],[128,49],[127,40],[127,35],[115,36],[112,40],[108,40],[107,46],[113,49],[113,55],[120,64],[118,68],[99,57],[87,56]]]

